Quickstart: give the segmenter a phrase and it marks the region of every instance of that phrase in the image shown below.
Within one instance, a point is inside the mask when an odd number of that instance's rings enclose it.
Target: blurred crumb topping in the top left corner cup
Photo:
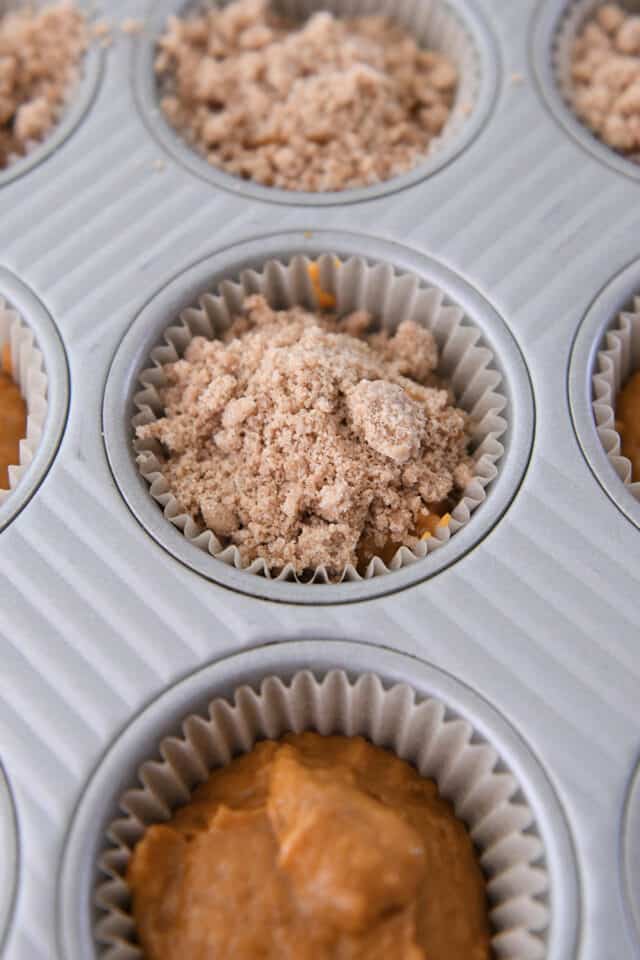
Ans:
[[[86,45],[84,17],[69,2],[0,17],[0,167],[55,125]]]

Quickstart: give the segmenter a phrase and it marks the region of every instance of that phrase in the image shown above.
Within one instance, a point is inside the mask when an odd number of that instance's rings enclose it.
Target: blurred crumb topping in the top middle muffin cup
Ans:
[[[344,190],[412,169],[442,133],[458,76],[387,17],[304,23],[268,0],[171,17],[156,72],[169,122],[208,161],[286,190]]]

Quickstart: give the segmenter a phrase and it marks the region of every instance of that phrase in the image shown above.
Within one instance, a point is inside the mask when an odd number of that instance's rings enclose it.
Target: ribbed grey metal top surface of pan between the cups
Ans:
[[[640,255],[639,187],[548,113],[529,64],[532,0],[475,2],[502,50],[493,115],[449,167],[387,199],[296,210],[196,179],[162,155],[136,112],[126,36],[107,51],[98,100],[71,139],[0,192],[0,262],[58,324],[71,378],[59,455],[0,535],[0,757],[21,853],[9,960],[64,960],[56,895],[65,832],[130,718],[207,661],[305,636],[417,654],[497,706],[541,760],[571,824],[580,960],[640,951],[616,861],[640,752],[638,531],[592,476],[567,401],[577,325],[597,290]],[[109,0],[108,16],[142,8]],[[451,569],[366,605],[269,604],[183,568],[129,513],[100,436],[109,361],[158,287],[216,248],[295,228],[400,240],[460,273],[511,327],[536,395],[533,458],[506,517]]]

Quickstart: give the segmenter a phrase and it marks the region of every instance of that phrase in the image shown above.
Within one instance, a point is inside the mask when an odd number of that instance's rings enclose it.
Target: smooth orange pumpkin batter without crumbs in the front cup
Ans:
[[[258,744],[146,831],[127,879],[146,960],[491,955],[464,825],[359,737]]]

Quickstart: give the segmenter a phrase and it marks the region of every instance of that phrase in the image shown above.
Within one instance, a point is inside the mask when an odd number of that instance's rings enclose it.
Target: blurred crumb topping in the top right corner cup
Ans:
[[[572,54],[574,109],[614,150],[640,161],[640,16],[601,6]]]

